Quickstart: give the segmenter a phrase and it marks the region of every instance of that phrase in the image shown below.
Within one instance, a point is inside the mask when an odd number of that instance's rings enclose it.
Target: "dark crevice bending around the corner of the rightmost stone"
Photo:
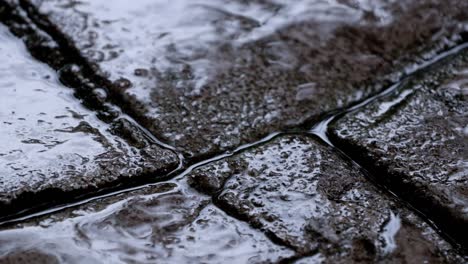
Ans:
[[[465,36],[467,37],[467,36]],[[464,40],[466,39],[464,37]],[[460,47],[462,45],[459,45]],[[457,47],[453,48],[453,50]],[[466,48],[459,50],[461,52]],[[456,54],[458,54],[458,52]],[[436,69],[440,65],[450,62],[456,54],[451,54],[449,56],[444,56],[440,60],[435,61],[434,63],[427,65],[412,74],[405,76],[401,81],[396,83],[391,89],[391,92],[398,91],[401,87],[407,87],[413,81],[411,78],[421,79],[427,72]],[[381,92],[382,95],[387,95],[385,90]],[[405,105],[408,102],[408,99],[412,95],[409,95],[405,100],[399,102],[397,105],[390,109],[390,113],[393,113],[395,108],[401,105]],[[381,96],[377,95],[375,98],[369,100],[369,103],[372,103],[375,100],[378,100]],[[365,101],[365,100],[364,100]],[[365,104],[365,105],[367,105]],[[358,104],[359,105],[359,104]],[[406,204],[406,206],[424,219],[434,230],[436,230],[446,241],[452,244],[461,254],[468,255],[468,236],[464,231],[466,226],[464,221],[460,216],[447,208],[444,208],[440,204],[437,204],[434,201],[433,197],[430,196],[430,192],[427,191],[422,186],[416,186],[410,182],[401,182],[398,179],[406,178],[402,173],[389,172],[384,164],[377,162],[372,156],[367,153],[367,150],[359,146],[358,144],[353,143],[350,140],[344,140],[339,138],[333,131],[331,127],[333,124],[340,121],[342,117],[346,114],[358,111],[360,108],[365,107],[365,105],[360,105],[358,108],[353,109],[352,107],[348,111],[343,111],[337,113],[333,116],[332,122],[327,126],[326,137],[336,151],[341,153],[343,157],[349,159],[356,164],[358,164],[365,175],[368,176],[369,180],[373,182],[379,189],[386,190],[395,196],[401,203]]]

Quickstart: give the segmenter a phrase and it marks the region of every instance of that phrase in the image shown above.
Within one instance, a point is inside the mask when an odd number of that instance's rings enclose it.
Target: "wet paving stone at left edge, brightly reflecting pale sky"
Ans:
[[[99,120],[2,25],[0,61],[0,217],[178,165],[127,119]]]

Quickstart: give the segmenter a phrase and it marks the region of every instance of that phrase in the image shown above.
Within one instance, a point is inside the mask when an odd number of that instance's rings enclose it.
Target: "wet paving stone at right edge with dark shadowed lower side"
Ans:
[[[378,181],[468,244],[468,51],[431,66],[334,125]]]

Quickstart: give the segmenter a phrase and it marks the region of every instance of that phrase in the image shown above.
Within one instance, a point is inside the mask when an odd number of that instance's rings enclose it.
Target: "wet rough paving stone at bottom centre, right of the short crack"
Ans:
[[[419,217],[331,148],[284,136],[197,168],[189,184],[271,239],[326,263],[460,262]]]

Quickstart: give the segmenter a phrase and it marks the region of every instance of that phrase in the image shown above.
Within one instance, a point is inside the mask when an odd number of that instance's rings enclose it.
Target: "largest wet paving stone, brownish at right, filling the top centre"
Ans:
[[[462,0],[20,2],[193,158],[362,99],[464,41],[468,21]]]

